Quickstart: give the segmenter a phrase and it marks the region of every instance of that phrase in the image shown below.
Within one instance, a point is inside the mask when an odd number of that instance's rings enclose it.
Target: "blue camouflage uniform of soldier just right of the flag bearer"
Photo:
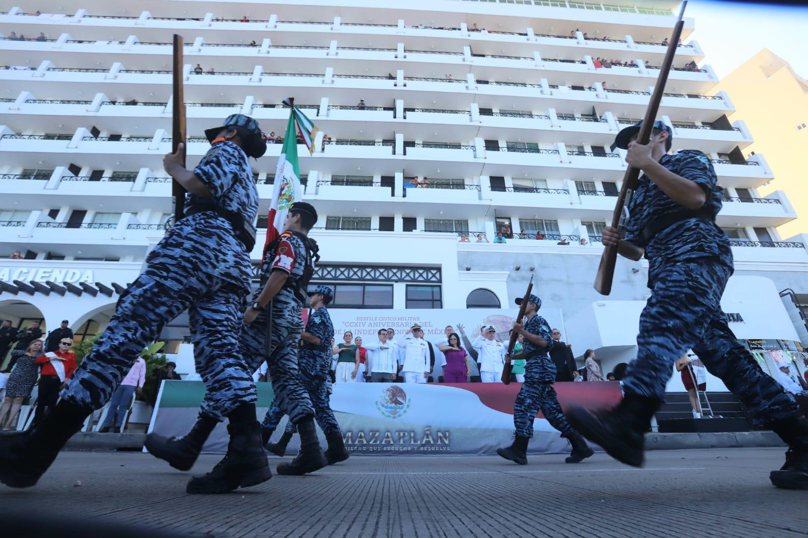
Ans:
[[[321,306],[311,313],[309,321],[306,322],[305,332],[319,337],[321,346],[320,349],[306,349],[307,344],[303,344],[304,348],[300,351],[301,380],[314,404],[314,418],[323,433],[329,434],[339,431],[339,423],[329,403],[331,380],[328,371],[331,366],[330,347],[331,339],[334,338],[334,326],[331,324],[331,317],[326,307]],[[273,401],[261,424],[263,430],[275,431],[283,414],[280,406]],[[287,423],[286,431],[288,433],[295,431],[291,421]]]

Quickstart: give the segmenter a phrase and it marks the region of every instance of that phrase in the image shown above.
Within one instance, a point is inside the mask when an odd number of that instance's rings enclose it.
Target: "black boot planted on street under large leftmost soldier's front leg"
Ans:
[[[272,472],[261,446],[259,422],[227,425],[230,442],[225,457],[210,473],[188,481],[189,494],[221,494],[269,480]]]

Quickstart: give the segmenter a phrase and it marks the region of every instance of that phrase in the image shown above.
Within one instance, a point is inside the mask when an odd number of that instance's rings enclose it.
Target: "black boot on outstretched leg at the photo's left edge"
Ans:
[[[0,437],[0,482],[12,488],[36,484],[74,433],[92,413],[60,401],[30,431]]]

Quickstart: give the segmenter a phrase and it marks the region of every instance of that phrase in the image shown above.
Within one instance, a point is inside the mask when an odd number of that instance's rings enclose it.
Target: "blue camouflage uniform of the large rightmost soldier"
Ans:
[[[707,193],[707,216],[678,221],[644,241],[642,230],[660,216],[687,214],[643,174],[629,204],[625,239],[646,249],[652,295],[640,316],[638,356],[624,378],[625,393],[663,400],[673,365],[691,349],[707,370],[739,397],[759,422],[797,414],[793,397],[764,374],[735,338],[721,309],[733,272],[730,242],[715,215],[722,207],[713,165],[704,153],[685,150],[659,161]]]

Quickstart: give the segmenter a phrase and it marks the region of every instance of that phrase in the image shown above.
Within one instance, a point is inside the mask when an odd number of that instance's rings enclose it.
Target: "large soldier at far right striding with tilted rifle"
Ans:
[[[806,490],[808,419],[735,338],[721,309],[733,261],[730,242],[715,223],[722,187],[713,166],[700,151],[668,154],[667,124],[654,122],[648,145],[634,140],[639,129],[625,128],[615,140],[628,149],[626,162],[644,172],[629,203],[625,240],[611,226],[603,233],[604,245],[637,259],[625,244],[633,242],[648,259],[652,295],[640,317],[638,355],[623,379],[620,405],[599,414],[575,408],[570,422],[617,460],[642,465],[643,434],[663,402],[676,359],[692,348],[760,423],[789,444],[785,464],[771,473],[772,484]]]

